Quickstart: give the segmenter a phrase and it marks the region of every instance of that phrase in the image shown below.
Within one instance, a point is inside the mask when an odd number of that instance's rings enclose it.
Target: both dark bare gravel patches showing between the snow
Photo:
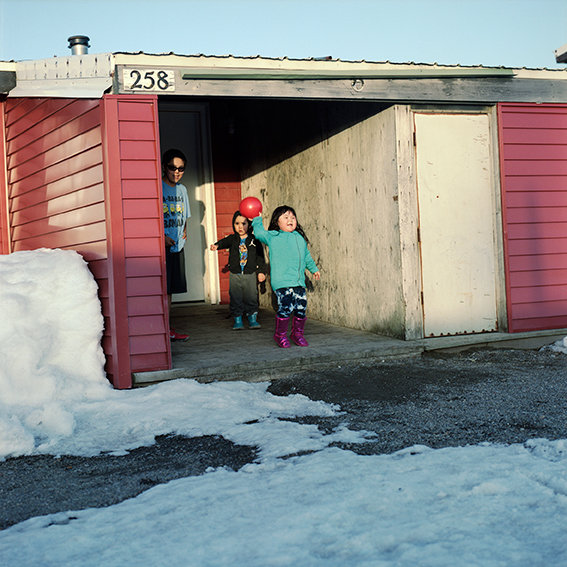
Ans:
[[[567,438],[567,356],[551,351],[425,354],[299,372],[270,384],[275,395],[337,404],[330,418],[298,418],[325,431],[345,424],[374,432],[360,454],[481,442]],[[126,456],[18,457],[0,462],[0,529],[54,512],[109,506],[208,467],[238,470],[253,447],[221,437],[160,437]]]

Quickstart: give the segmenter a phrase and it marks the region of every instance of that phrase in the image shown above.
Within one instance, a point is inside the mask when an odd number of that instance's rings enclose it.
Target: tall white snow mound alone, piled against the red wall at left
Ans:
[[[96,282],[72,251],[0,256],[0,457],[71,435],[70,405],[110,386]]]

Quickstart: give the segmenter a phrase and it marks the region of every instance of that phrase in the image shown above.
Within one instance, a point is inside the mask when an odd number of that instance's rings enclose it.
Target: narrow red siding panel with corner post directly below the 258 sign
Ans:
[[[157,97],[105,96],[109,239],[116,349],[131,372],[171,368],[162,228]],[[141,307],[141,308],[140,308]],[[125,357],[121,361],[124,363]],[[126,384],[128,381],[128,384]]]

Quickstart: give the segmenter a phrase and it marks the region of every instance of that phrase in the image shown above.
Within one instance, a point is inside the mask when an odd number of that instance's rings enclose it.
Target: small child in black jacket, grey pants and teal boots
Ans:
[[[256,281],[266,280],[264,249],[254,238],[248,219],[236,211],[232,217],[234,234],[211,244],[211,250],[229,249],[230,314],[234,317],[233,330],[244,328],[242,317],[246,315],[251,329],[259,329],[258,288]]]

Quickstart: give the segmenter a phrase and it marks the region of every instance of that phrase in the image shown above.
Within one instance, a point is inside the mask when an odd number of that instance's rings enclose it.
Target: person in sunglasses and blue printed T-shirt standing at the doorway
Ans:
[[[187,241],[187,220],[191,217],[187,188],[180,183],[187,158],[180,150],[167,150],[162,157],[163,224],[165,229],[165,264],[167,297],[171,310],[171,295],[185,293],[185,259],[183,248]],[[186,340],[189,335],[169,330],[171,340]]]

